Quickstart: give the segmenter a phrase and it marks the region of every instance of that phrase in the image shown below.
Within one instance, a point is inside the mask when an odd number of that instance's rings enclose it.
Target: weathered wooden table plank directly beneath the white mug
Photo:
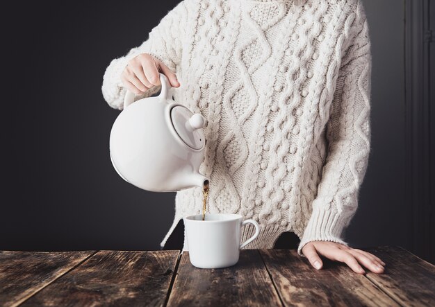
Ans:
[[[257,250],[243,249],[236,265],[199,269],[183,252],[168,306],[281,306]]]

